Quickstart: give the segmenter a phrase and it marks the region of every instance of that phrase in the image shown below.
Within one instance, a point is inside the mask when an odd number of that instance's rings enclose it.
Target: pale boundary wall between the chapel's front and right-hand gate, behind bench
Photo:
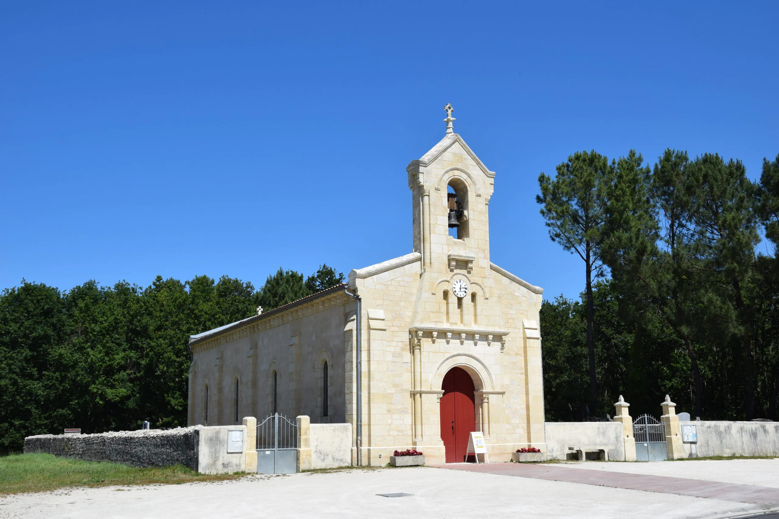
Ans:
[[[622,423],[619,422],[546,422],[546,456],[550,460],[564,460],[568,447],[603,445],[611,447],[608,459],[625,461],[625,442]]]

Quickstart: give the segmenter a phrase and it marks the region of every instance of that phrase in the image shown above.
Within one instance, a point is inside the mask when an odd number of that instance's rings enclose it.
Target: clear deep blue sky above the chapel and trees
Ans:
[[[405,167],[497,172],[492,261],[545,296],[570,153],[779,153],[777,2],[6,2],[0,287],[340,271],[411,251]]]

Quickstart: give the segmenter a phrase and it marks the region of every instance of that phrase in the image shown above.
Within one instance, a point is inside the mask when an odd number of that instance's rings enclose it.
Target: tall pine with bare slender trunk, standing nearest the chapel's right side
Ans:
[[[574,153],[556,167],[554,179],[541,173],[538,184],[541,216],[549,237],[584,262],[587,298],[587,356],[590,377],[590,409],[597,409],[597,370],[595,363],[593,279],[602,273],[601,243],[606,219],[608,188],[613,170],[608,159],[594,150]]]

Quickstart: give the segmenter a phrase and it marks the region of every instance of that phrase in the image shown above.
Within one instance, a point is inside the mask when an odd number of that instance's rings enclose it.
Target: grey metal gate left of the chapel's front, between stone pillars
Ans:
[[[273,413],[257,426],[257,473],[298,472],[298,425]]]

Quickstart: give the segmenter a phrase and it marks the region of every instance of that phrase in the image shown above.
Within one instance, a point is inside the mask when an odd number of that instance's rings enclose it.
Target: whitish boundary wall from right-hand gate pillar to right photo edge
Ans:
[[[779,456],[779,422],[679,422],[696,426],[696,456]],[[693,444],[683,444],[685,458]]]

